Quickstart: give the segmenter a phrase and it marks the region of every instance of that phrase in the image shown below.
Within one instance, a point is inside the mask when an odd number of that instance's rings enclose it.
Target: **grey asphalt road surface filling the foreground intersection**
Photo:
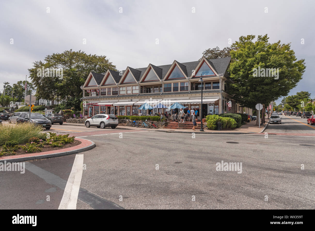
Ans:
[[[77,209],[315,208],[314,137],[281,135],[313,131],[291,118],[268,126],[275,134],[268,136],[53,128],[90,134],[96,143],[80,153],[86,169]],[[58,209],[74,158],[26,162],[25,174],[0,172],[0,209]],[[242,173],[217,171],[221,161],[242,163]]]

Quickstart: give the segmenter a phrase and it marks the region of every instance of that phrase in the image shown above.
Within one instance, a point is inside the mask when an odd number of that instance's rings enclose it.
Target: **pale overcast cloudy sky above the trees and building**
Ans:
[[[270,42],[291,43],[297,59],[305,59],[303,79],[290,94],[303,90],[315,98],[312,0],[2,0],[0,4],[1,90],[4,81],[12,85],[24,80],[32,62],[69,49],[106,55],[124,70],[196,61],[206,49],[230,46],[229,39],[268,34]]]

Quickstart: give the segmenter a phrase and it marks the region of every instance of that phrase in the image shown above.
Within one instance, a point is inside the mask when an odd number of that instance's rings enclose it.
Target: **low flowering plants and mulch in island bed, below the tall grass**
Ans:
[[[81,141],[75,140],[75,137],[68,136],[69,134],[56,135],[48,132],[46,139],[31,137],[24,144],[19,144],[17,141],[7,141],[0,147],[0,157],[58,150],[77,146],[81,143]]]

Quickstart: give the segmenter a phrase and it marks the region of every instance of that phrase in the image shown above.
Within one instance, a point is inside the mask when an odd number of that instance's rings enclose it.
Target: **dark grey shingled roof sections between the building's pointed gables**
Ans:
[[[210,63],[210,65],[215,69],[215,71],[218,74],[224,74],[224,76],[226,76],[227,68],[231,62],[231,57],[218,58],[218,59],[207,59],[207,61]],[[176,62],[178,63],[180,68],[183,70],[183,72],[186,74],[186,76],[190,77],[192,74],[192,71],[195,70],[195,68],[197,67],[197,65],[200,61],[183,62],[183,63],[180,63],[178,61],[176,61]],[[157,73],[157,76],[160,79],[163,79],[165,77],[166,73],[169,71],[169,68],[172,66],[172,64],[162,65],[162,66],[155,66],[155,65],[151,64],[151,66],[154,69],[154,71]],[[137,82],[140,81],[140,78],[145,73],[146,69],[147,69],[147,67],[136,68],[136,69],[129,67],[130,72],[133,74],[133,76],[135,77]],[[109,70],[109,71],[112,74],[115,82],[118,83],[120,81],[122,75],[119,75],[119,72],[117,72],[117,71],[113,71],[113,70]],[[125,70],[123,70],[123,73],[124,72],[125,72]],[[104,77],[104,73],[99,74],[99,73],[92,72],[92,74],[93,74],[93,77],[95,78],[97,84],[100,85],[100,82],[102,81],[102,79]]]

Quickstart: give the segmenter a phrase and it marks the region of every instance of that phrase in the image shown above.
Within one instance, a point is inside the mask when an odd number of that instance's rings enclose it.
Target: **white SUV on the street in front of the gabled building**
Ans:
[[[118,118],[116,115],[97,114],[87,119],[85,126],[96,126],[100,128],[111,127],[115,129],[118,126]]]

